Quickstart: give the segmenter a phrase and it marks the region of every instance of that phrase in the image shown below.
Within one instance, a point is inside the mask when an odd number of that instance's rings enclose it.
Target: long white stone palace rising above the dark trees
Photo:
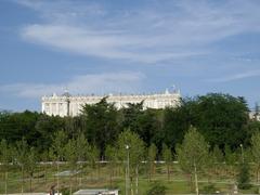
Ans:
[[[62,95],[55,93],[51,96],[42,96],[41,110],[47,115],[54,116],[77,116],[80,114],[82,105],[84,104],[96,104],[104,96],[102,95],[86,95],[86,96],[74,96],[68,92]],[[169,92],[166,90],[165,93],[158,94],[109,94],[107,95],[107,102],[114,103],[116,108],[120,109],[126,107],[128,103],[140,103],[143,101],[144,108],[165,108],[174,107],[180,103],[180,91]]]

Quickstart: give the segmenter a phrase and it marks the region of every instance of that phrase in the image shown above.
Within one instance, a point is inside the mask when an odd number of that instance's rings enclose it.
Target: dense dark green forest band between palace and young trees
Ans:
[[[105,158],[107,145],[115,145],[125,130],[136,133],[145,146],[155,144],[161,151],[164,144],[176,153],[190,127],[195,127],[210,148],[226,146],[236,151],[240,144],[249,146],[251,135],[260,130],[260,122],[249,119],[249,109],[244,98],[209,93],[181,100],[180,106],[165,109],[143,109],[142,103],[129,104],[117,110],[106,99],[94,105],[84,105],[77,117],[47,116],[41,113],[0,114],[0,140],[9,144],[25,140],[38,153],[53,145],[54,135],[64,131],[66,139],[80,134]]]

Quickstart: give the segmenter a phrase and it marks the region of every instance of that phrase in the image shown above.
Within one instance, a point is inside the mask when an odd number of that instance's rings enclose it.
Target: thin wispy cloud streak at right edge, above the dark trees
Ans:
[[[235,81],[235,80],[240,80],[240,79],[246,79],[246,78],[251,78],[251,77],[259,77],[260,76],[260,70],[250,70],[246,73],[238,73],[235,75],[230,75],[221,78],[213,78],[213,79],[208,79],[207,81],[211,82],[229,82],[229,81]]]

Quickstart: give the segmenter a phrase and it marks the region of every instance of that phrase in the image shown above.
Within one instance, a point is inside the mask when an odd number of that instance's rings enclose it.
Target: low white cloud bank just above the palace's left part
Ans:
[[[63,93],[67,88],[73,94],[138,92],[145,75],[142,73],[105,73],[75,76],[68,82],[47,83],[11,83],[0,86],[0,93],[22,98],[40,98],[42,95]]]

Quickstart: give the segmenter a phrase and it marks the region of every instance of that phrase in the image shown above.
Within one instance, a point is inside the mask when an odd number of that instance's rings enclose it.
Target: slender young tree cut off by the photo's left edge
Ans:
[[[8,145],[6,140],[2,140],[0,143],[0,164],[4,171],[4,193],[8,194],[8,172],[9,172],[9,162],[11,159],[11,148]]]

